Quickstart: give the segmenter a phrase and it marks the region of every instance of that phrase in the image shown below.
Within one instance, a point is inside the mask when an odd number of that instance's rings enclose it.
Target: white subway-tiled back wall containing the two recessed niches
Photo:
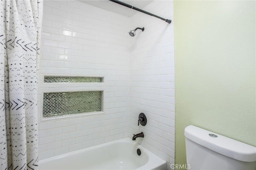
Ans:
[[[39,120],[42,92],[104,90],[104,114],[39,121],[39,159],[128,137],[129,24],[82,2],[44,1]],[[49,74],[104,76],[104,83],[44,84]]]

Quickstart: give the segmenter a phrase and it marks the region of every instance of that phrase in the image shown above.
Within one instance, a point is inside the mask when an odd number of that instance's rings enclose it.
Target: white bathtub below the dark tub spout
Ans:
[[[141,155],[137,154],[141,150]],[[166,170],[166,161],[130,138],[39,161],[39,170]]]

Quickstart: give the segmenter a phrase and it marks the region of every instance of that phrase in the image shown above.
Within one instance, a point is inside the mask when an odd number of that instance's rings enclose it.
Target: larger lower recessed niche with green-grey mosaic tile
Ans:
[[[102,110],[102,91],[44,93],[43,117]]]

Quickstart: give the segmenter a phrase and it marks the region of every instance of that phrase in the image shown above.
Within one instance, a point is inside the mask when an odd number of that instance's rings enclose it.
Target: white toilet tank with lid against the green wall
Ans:
[[[193,125],[184,135],[190,170],[256,170],[256,147]]]

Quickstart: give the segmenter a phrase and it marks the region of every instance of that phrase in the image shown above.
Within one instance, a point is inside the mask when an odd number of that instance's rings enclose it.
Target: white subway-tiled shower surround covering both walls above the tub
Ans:
[[[124,8],[120,6],[120,8]],[[172,1],[145,10],[172,19]],[[173,23],[172,23],[173,24]],[[44,1],[41,43],[39,159],[131,137],[174,161],[173,25],[137,13],[121,16],[78,1]],[[130,37],[128,31],[145,27]],[[44,82],[44,76],[102,77],[103,82]],[[102,91],[101,114],[43,119],[43,93]],[[148,117],[138,127],[138,115]]]

